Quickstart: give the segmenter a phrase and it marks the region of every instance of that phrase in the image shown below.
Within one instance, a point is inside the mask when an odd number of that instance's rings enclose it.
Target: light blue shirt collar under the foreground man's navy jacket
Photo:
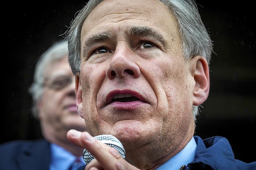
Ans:
[[[188,142],[184,149],[174,155],[171,159],[159,166],[156,170],[179,170],[182,165],[188,165],[195,159],[196,141],[194,137]]]

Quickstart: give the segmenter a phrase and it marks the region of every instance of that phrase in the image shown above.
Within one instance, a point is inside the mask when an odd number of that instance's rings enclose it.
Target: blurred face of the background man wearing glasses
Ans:
[[[75,79],[67,60],[68,56],[47,66],[44,91],[38,102],[44,136],[51,140],[67,139],[69,129],[87,130],[84,120],[77,113]]]

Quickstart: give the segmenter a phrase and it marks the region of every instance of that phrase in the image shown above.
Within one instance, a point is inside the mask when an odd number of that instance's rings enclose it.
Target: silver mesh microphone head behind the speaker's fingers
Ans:
[[[107,144],[108,146],[115,148],[118,151],[118,153],[121,155],[121,157],[125,158],[124,146],[116,137],[112,135],[99,135],[99,136],[95,136],[94,138],[96,138],[97,140],[99,140],[104,144]],[[83,158],[84,158],[85,165],[87,165],[89,164],[89,162],[92,161],[92,159],[94,159],[94,156],[92,156],[90,152],[84,149]]]

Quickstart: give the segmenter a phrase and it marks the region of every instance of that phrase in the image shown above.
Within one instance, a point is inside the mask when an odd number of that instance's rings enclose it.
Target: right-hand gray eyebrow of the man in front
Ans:
[[[164,35],[153,28],[148,26],[132,26],[128,31],[130,36],[138,36],[138,37],[151,37],[161,42],[164,46],[166,46],[167,41],[164,39]]]

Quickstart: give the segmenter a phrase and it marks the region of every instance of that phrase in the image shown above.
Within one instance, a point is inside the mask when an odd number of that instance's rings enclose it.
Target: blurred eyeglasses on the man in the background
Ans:
[[[44,79],[44,86],[53,90],[62,90],[74,81],[74,77],[68,75],[54,75]]]

